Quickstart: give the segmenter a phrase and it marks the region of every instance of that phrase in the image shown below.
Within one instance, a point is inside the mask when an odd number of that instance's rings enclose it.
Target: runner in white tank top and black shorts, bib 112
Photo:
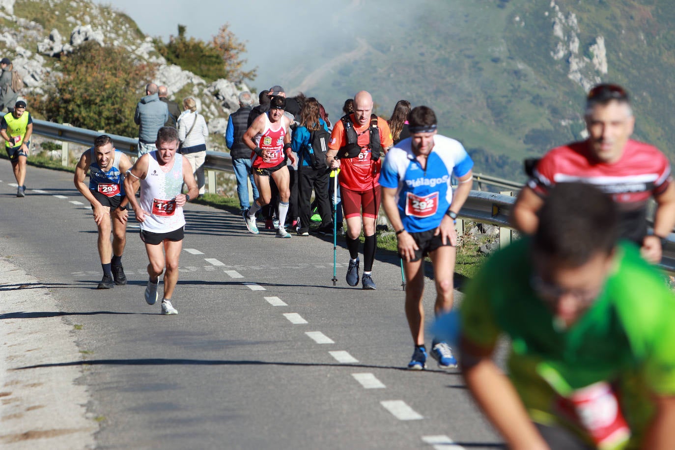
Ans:
[[[166,267],[162,314],[178,314],[170,300],[178,283],[178,258],[183,248],[183,206],[199,192],[190,163],[176,154],[178,142],[175,128],[160,128],[155,142],[157,150],[143,154],[124,179],[129,204],[140,222],[140,239],[150,260],[145,288],[145,301],[150,305],[157,302],[159,275]],[[136,201],[136,180],[140,181],[140,202]],[[183,184],[188,186],[187,194],[181,194]]]

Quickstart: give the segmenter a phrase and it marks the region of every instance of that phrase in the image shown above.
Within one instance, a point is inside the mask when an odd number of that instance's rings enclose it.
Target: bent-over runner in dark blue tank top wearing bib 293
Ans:
[[[94,146],[82,153],[80,162],[75,167],[75,187],[91,204],[94,222],[99,229],[99,256],[103,279],[97,289],[111,289],[113,281],[117,285],[126,285],[121,259],[126,245],[129,214],[128,201],[124,197],[123,174],[131,167],[129,157],[115,150],[113,140],[106,134],[94,140]],[[87,172],[88,186],[84,183]]]

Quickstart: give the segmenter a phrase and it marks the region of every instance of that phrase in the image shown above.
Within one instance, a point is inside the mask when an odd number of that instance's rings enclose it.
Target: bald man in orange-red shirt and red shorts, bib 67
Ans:
[[[380,205],[379,173],[384,154],[394,145],[389,124],[373,114],[373,97],[362,90],[354,96],[354,113],[345,115],[333,128],[326,163],[341,168],[340,196],[347,220],[347,248],[350,261],[347,283],[358,285],[358,237],[361,223],[365,235],[363,246],[363,289],[376,289],[371,277],[377,239],[375,221]]]

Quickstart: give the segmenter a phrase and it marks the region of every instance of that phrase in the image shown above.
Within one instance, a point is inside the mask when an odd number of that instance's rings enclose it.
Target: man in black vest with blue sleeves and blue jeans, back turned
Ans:
[[[229,115],[227,130],[225,131],[225,142],[227,148],[229,148],[229,155],[232,157],[232,167],[234,167],[234,175],[237,178],[239,206],[242,211],[248,210],[250,206],[247,179],[250,179],[251,182],[253,198],[260,196],[251,170],[251,150],[242,142],[242,136],[248,130],[248,115],[251,112],[252,104],[253,97],[250,92],[239,94],[239,109]]]

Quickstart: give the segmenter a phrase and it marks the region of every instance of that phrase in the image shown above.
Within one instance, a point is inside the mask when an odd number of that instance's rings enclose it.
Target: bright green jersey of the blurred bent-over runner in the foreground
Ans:
[[[536,422],[558,423],[559,396],[607,381],[639,440],[651,416],[649,393],[675,395],[675,297],[664,275],[622,242],[597,301],[561,331],[531,287],[530,242],[497,252],[468,284],[462,337],[485,348],[500,335],[511,339],[509,376]]]

